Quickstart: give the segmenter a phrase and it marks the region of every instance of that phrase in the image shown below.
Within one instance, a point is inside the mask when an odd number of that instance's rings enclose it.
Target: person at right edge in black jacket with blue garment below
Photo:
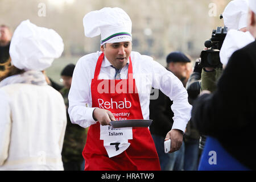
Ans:
[[[255,0],[249,0],[247,19],[254,42],[232,54],[216,91],[203,91],[193,103],[192,122],[208,135],[200,170],[256,170]]]

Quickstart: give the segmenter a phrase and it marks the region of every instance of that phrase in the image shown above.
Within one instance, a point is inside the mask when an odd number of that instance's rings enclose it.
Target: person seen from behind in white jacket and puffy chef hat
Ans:
[[[63,49],[57,32],[30,20],[14,31],[12,65],[0,82],[0,170],[63,170],[65,104],[42,73]]]

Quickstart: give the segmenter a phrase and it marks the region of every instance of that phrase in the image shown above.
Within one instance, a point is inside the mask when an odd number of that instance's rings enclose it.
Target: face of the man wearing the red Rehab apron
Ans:
[[[131,42],[106,43],[101,46],[101,51],[109,62],[117,69],[125,67],[131,54]]]

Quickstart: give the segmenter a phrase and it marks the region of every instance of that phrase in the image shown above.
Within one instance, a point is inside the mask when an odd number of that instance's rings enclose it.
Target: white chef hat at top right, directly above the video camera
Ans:
[[[248,0],[233,0],[229,2],[223,12],[225,26],[229,30],[240,30],[247,27],[248,8]]]

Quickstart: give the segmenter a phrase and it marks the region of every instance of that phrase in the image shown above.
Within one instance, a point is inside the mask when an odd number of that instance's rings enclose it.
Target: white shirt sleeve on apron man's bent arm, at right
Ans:
[[[152,72],[154,72],[152,86],[160,89],[173,101],[170,108],[174,112],[172,129],[179,129],[184,132],[191,118],[192,109],[192,106],[188,103],[187,90],[179,78],[156,61],[152,61]]]

